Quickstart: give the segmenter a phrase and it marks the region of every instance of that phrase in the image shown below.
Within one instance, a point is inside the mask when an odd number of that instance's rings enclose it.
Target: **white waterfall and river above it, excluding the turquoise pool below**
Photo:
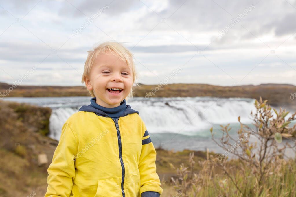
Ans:
[[[90,104],[90,97],[41,97],[10,98],[18,102],[29,102],[52,108],[49,137],[59,140],[65,121],[82,105]],[[193,136],[212,125],[237,123],[241,116],[250,123],[251,110],[255,110],[254,99],[216,97],[134,97],[127,102],[139,111],[149,133],[181,133]]]

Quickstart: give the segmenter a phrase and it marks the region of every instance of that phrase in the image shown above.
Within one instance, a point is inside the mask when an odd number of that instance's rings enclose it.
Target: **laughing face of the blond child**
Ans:
[[[132,86],[132,70],[126,62],[110,52],[97,56],[90,76],[86,78],[86,87],[93,90],[96,103],[106,108],[119,106],[131,92]],[[108,88],[120,88],[121,91],[108,90]]]

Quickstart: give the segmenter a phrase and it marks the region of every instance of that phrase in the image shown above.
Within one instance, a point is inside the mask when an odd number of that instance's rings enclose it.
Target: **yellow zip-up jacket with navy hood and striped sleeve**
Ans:
[[[111,118],[84,105],[68,118],[47,170],[45,197],[162,194],[147,128],[139,112],[126,107],[120,117]]]

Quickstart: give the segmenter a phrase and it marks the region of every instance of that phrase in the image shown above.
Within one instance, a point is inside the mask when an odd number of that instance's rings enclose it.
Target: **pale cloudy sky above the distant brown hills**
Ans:
[[[296,85],[296,0],[1,1],[0,23],[8,84],[82,85],[87,51],[116,41],[142,84]]]

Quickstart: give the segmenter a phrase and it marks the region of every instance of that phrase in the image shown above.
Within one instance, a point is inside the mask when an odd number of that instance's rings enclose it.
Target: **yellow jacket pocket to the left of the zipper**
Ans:
[[[120,178],[99,180],[95,197],[121,196]]]

